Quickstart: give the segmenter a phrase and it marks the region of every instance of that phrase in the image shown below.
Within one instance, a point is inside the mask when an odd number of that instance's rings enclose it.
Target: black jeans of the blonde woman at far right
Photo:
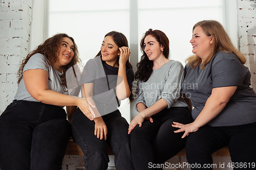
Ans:
[[[256,123],[229,127],[205,125],[190,133],[186,141],[186,157],[191,169],[212,169],[211,154],[227,145],[232,160],[230,167],[256,169]],[[200,165],[195,166],[196,163]]]

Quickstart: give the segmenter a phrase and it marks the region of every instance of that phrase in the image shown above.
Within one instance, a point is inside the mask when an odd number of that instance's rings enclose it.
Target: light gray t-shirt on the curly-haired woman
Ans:
[[[62,73],[58,72],[52,65],[49,66],[47,63],[47,58],[44,55],[37,53],[31,56],[27,64],[24,66],[23,72],[29,69],[46,70],[49,73],[49,90],[53,90],[62,94],[68,94],[68,92],[65,92],[63,90],[63,87],[61,85],[60,76],[62,75]],[[18,85],[17,93],[14,97],[14,100],[39,102],[29,94],[28,90],[25,87],[24,79],[22,79]]]

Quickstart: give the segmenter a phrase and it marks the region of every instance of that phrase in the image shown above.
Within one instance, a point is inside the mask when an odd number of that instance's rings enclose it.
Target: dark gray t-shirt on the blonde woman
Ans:
[[[213,88],[238,86],[225,108],[208,124],[220,127],[256,122],[256,94],[249,87],[250,78],[249,69],[233,53],[217,53],[204,69],[186,65],[182,87],[194,106],[193,118],[202,111]]]

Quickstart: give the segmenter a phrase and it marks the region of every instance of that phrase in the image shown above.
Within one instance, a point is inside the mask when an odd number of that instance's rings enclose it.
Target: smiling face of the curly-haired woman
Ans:
[[[68,65],[74,57],[74,43],[68,37],[63,37],[60,43],[57,62],[53,64],[59,72],[62,72],[63,66]]]

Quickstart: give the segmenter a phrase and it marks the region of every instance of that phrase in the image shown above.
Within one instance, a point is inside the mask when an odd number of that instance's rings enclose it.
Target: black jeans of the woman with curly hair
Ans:
[[[61,169],[71,135],[66,117],[59,106],[12,102],[0,116],[1,170]]]

